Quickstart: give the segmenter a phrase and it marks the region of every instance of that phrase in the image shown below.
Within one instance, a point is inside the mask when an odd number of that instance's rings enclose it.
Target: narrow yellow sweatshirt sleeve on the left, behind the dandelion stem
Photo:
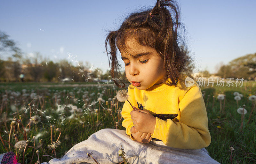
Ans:
[[[128,87],[128,100],[131,102],[132,106],[136,107],[137,103],[134,98],[134,86],[131,86],[131,85]],[[122,122],[122,126],[125,127],[126,134],[130,136],[132,140],[136,140],[131,135],[131,128],[132,126],[134,126],[134,124],[132,123],[132,118],[130,114],[132,110],[133,109],[129,104],[129,102],[125,101],[124,106],[122,108],[122,112],[121,112],[121,115],[124,118],[124,121]]]

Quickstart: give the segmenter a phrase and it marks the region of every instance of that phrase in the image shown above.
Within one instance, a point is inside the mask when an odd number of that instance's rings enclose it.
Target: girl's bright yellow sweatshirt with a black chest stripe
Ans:
[[[128,96],[133,106],[156,117],[155,130],[151,134],[155,140],[181,149],[201,149],[210,145],[211,136],[204,99],[196,83],[186,87],[185,80],[179,80],[177,87],[162,83],[147,90],[139,90],[130,85]],[[122,126],[126,128],[126,134],[135,140],[130,131],[134,126],[131,111],[131,105],[125,101],[122,108]]]

